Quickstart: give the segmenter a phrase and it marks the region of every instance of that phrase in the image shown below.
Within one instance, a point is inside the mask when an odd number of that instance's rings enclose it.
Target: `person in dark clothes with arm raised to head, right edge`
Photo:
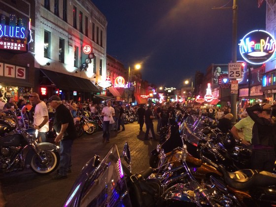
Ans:
[[[251,169],[273,172],[275,166],[276,122],[271,119],[270,104],[255,104],[246,108],[254,121],[252,127]],[[259,111],[254,113],[254,111]]]

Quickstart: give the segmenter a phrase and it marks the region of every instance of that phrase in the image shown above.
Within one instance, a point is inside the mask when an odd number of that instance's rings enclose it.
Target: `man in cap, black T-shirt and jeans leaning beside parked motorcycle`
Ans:
[[[60,97],[53,95],[48,102],[56,110],[53,127],[57,133],[55,142],[60,142],[60,165],[53,179],[64,179],[71,172],[71,149],[77,132],[73,117]]]

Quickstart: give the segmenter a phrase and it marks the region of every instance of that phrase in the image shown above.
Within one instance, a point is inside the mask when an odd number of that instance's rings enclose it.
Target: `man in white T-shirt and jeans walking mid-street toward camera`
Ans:
[[[110,120],[113,120],[113,116],[115,116],[115,111],[114,111],[114,108],[111,106],[110,100],[106,102],[106,106],[102,110],[102,116],[104,116],[103,142],[106,141],[107,143],[109,143],[110,128],[111,128]]]

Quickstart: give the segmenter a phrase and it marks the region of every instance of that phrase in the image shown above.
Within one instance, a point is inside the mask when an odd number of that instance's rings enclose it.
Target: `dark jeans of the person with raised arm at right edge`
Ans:
[[[251,168],[253,170],[263,170],[272,173],[275,159],[274,149],[253,149],[251,156]]]

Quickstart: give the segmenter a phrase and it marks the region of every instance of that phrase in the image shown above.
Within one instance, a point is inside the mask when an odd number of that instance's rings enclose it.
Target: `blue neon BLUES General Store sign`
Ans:
[[[31,19],[29,29],[0,24],[0,49],[25,52],[31,39]]]

